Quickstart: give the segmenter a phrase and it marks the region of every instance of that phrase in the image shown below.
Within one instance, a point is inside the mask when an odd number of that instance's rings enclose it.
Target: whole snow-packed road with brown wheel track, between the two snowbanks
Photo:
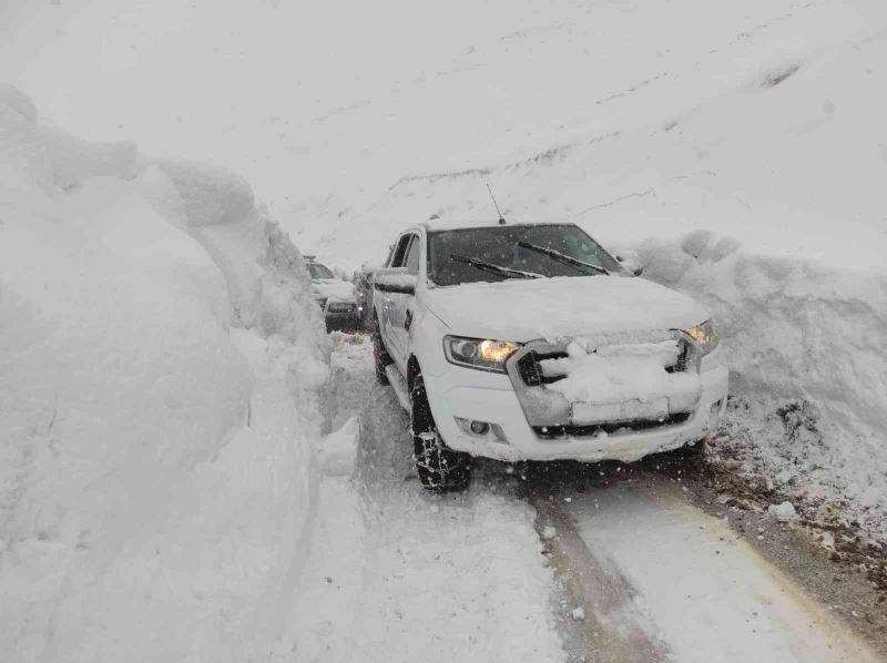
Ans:
[[[360,336],[337,337],[327,405],[325,452],[347,456],[341,440],[350,436],[356,461],[339,468],[350,478],[322,487],[320,531],[290,630],[297,642],[282,654],[880,660],[732,529],[726,509],[695,506],[689,473],[481,461],[467,493],[428,494],[408,418],[375,382]]]

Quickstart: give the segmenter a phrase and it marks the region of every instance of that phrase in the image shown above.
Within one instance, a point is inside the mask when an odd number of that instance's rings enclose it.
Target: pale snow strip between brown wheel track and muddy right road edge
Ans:
[[[737,536],[701,513],[677,484],[631,482],[565,506],[599,572],[630,600],[594,600],[587,619],[636,620],[675,661],[875,661],[835,615],[805,595]],[[638,532],[645,533],[638,544]],[[769,536],[769,532],[766,532]],[[763,537],[764,534],[759,534]]]

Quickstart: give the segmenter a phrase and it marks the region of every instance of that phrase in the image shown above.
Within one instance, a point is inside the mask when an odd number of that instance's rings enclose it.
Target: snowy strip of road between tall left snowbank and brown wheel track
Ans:
[[[376,384],[370,345],[339,338],[334,432],[323,446],[333,438],[340,450],[350,438],[350,463],[330,463],[322,484],[313,557],[279,660],[565,660],[534,510],[487,482],[442,500],[425,493],[408,418]]]

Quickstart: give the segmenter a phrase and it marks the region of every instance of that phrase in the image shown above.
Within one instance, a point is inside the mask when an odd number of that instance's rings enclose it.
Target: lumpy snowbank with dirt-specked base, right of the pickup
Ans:
[[[731,431],[769,477],[887,530],[887,275],[756,255],[711,233],[648,239],[644,276],[703,300],[731,368]]]

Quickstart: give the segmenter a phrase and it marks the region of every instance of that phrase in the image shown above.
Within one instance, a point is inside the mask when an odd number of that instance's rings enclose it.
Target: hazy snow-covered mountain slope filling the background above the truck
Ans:
[[[887,242],[879,0],[0,12],[16,35],[0,79],[49,118],[242,164],[329,264],[377,262],[434,212],[490,213],[487,180],[511,212],[572,216],[604,241],[702,227],[860,267]]]

